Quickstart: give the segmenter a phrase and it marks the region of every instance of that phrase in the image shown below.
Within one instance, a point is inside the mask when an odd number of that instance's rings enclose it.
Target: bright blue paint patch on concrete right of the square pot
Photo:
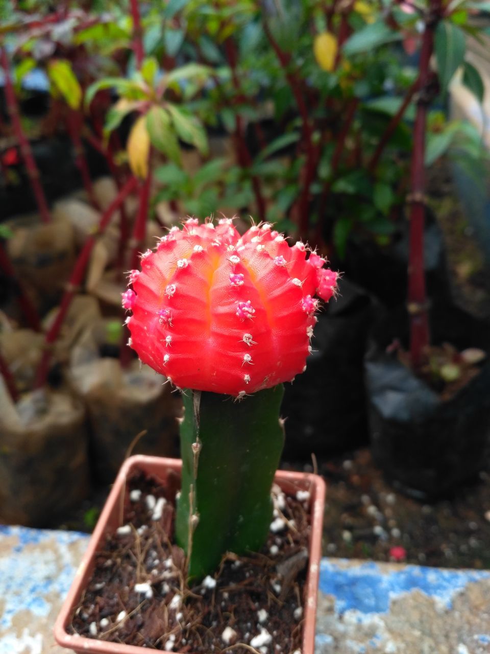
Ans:
[[[387,613],[390,601],[402,593],[421,591],[451,608],[453,595],[470,581],[488,579],[490,572],[479,570],[445,570],[406,566],[382,571],[374,562],[346,567],[328,559],[321,561],[319,589],[335,596],[340,614],[350,609],[359,613]],[[359,616],[361,619],[361,616]]]

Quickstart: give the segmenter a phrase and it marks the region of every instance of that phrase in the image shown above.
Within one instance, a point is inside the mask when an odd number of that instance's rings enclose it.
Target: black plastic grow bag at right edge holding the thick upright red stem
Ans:
[[[434,343],[487,354],[489,326],[458,309],[434,320]],[[463,328],[457,334],[458,324]],[[446,327],[446,329],[444,329]],[[371,343],[365,361],[372,454],[393,486],[409,496],[434,500],[475,479],[485,466],[490,437],[490,362],[453,396],[442,399],[397,358],[384,336]],[[444,338],[444,333],[448,334]],[[394,332],[395,334],[397,332]]]

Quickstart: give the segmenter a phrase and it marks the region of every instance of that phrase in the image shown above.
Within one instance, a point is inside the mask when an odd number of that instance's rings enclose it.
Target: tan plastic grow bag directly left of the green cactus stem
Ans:
[[[123,369],[117,358],[120,339],[108,343],[110,320],[95,322],[71,353],[71,381],[86,404],[91,427],[91,458],[98,481],[116,476],[135,437],[135,453],[176,456],[180,397],[165,377],[136,359]],[[122,332],[120,332],[122,334]],[[125,346],[124,346],[125,347]]]

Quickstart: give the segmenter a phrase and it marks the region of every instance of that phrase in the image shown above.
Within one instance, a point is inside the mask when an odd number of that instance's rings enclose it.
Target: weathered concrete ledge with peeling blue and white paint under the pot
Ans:
[[[87,541],[0,526],[0,654],[61,654],[52,626]],[[323,559],[319,587],[316,654],[490,654],[490,572]]]

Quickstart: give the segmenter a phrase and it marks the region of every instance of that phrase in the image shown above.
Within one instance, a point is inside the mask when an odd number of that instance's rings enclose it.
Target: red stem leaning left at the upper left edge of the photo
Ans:
[[[29,141],[27,140],[27,137],[24,134],[24,130],[22,129],[22,123],[20,122],[20,115],[17,100],[15,97],[14,86],[12,84],[12,78],[10,77],[10,63],[8,61],[7,50],[5,50],[5,47],[3,46],[0,46],[0,58],[3,73],[5,76],[5,101],[7,103],[8,115],[12,121],[12,126],[20,145],[20,152],[22,154],[22,158],[24,159],[25,169],[27,171],[29,181],[31,182],[31,188],[36,199],[39,214],[41,215],[41,220],[42,222],[50,222],[50,212],[48,209],[48,203],[46,202],[46,197],[44,196],[44,191],[42,190],[41,181],[39,179],[39,170],[37,169]]]

